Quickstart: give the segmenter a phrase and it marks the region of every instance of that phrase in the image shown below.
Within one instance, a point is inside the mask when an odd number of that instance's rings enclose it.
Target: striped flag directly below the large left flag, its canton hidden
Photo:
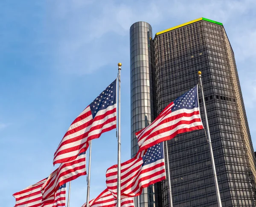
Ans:
[[[47,181],[42,186],[41,192],[43,195],[42,206],[52,204],[55,201],[55,193],[61,185],[72,181],[79,176],[86,175],[86,154],[85,152],[70,162],[61,163],[47,178]]]

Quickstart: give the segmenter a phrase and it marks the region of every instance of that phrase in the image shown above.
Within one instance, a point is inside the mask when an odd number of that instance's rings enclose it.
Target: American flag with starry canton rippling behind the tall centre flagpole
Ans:
[[[116,198],[117,165],[106,173],[108,190]],[[143,188],[166,179],[163,143],[150,147],[140,158],[121,164],[121,198],[139,196]]]

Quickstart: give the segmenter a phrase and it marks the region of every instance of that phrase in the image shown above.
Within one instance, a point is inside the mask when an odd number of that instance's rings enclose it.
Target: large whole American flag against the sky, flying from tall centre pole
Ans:
[[[73,121],[54,153],[53,164],[69,162],[87,142],[116,128],[116,79]]]

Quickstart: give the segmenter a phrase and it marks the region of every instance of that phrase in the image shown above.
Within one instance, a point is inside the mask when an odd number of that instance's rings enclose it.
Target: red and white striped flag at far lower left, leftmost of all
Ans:
[[[42,201],[41,187],[47,179],[26,187],[20,192],[14,193],[16,199],[15,207],[40,207]]]

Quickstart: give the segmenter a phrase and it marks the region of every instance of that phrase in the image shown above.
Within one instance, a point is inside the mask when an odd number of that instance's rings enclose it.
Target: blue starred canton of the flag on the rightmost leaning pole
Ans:
[[[179,96],[174,101],[174,106],[172,107],[172,111],[177,111],[179,109],[192,109],[198,107],[198,87],[197,85],[190,89],[185,94]]]

